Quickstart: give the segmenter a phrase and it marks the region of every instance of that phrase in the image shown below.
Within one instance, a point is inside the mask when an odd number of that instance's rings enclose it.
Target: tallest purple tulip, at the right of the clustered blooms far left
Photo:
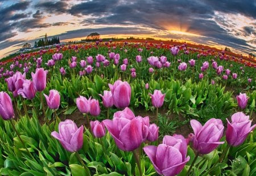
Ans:
[[[46,88],[46,75],[48,71],[44,68],[36,68],[35,74],[31,72],[36,91],[41,92]]]

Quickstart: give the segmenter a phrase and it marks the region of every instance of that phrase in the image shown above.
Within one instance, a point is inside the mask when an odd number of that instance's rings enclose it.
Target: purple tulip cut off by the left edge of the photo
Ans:
[[[14,118],[13,102],[6,92],[0,92],[0,115],[4,120]]]

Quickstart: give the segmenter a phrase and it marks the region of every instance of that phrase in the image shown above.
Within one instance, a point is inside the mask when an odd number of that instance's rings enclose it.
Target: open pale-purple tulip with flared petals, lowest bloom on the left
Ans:
[[[76,123],[67,119],[59,123],[59,133],[52,132],[53,138],[60,141],[63,148],[69,152],[77,152],[82,148],[84,126],[77,128]]]

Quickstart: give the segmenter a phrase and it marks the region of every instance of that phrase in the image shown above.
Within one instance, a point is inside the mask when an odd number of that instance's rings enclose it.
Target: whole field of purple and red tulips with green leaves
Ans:
[[[256,174],[254,61],[97,41],[0,67],[1,175]]]

